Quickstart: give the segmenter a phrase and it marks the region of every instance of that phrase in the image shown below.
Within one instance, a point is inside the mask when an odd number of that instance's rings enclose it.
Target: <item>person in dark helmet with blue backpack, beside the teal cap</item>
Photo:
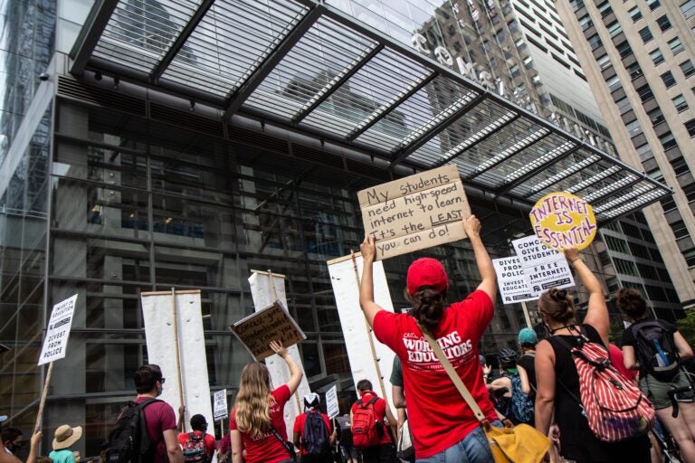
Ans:
[[[489,389],[496,391],[504,389],[506,392],[500,398],[496,407],[500,413],[509,418],[512,423],[533,423],[533,401],[521,389],[521,379],[517,367],[517,353],[505,348],[497,354],[500,363],[500,378],[490,383]]]

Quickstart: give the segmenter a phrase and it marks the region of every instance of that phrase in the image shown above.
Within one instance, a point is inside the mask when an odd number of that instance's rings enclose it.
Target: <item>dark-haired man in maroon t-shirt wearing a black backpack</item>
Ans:
[[[184,463],[176,439],[176,414],[167,402],[157,399],[166,378],[157,364],[145,364],[135,372],[138,396],[120,411],[109,432],[106,463]]]

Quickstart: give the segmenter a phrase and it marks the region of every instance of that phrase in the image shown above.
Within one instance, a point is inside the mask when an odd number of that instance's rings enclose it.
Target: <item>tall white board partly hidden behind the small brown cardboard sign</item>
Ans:
[[[262,310],[263,307],[270,306],[276,300],[281,301],[284,307],[287,305],[287,294],[285,292],[285,277],[273,273],[272,279],[269,272],[252,270],[252,275],[249,277],[251,285],[251,297],[253,299],[253,307],[255,310]],[[287,348],[288,354],[291,355],[294,362],[300,365],[300,369],[304,371],[304,364],[301,362],[300,349],[297,345],[291,345]],[[290,370],[284,360],[279,355],[272,354],[265,359],[265,364],[268,366],[268,372],[271,374],[271,382],[275,387],[287,383],[290,380]],[[292,435],[294,429],[294,419],[304,411],[303,397],[309,394],[309,383],[307,375],[301,377],[300,387],[297,389],[293,398],[285,405],[285,426],[287,426],[287,435]]]

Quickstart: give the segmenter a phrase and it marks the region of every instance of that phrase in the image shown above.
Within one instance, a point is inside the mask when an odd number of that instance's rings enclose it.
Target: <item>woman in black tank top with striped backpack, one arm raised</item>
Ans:
[[[650,411],[653,417],[651,404],[610,365],[608,307],[601,283],[580,258],[578,250],[566,249],[565,256],[589,293],[588,308],[584,323],[577,326],[573,297],[566,290],[550,288],[538,299],[547,339],[536,346],[536,428],[547,435],[555,415],[560,433],[560,455],[577,463],[649,463],[650,444],[646,431],[651,424],[648,420]],[[600,353],[602,358],[596,357],[596,353]],[[594,358],[595,364],[584,361],[589,357]],[[611,388],[608,391],[605,380]],[[595,399],[594,395],[586,394],[587,391],[599,390],[610,392],[615,400],[629,402],[626,407],[631,412],[643,412],[643,419],[636,421],[643,425],[643,429],[633,427],[632,420],[600,420],[605,411],[598,410],[595,407],[597,402],[590,400]],[[629,437],[612,441],[599,439],[596,424],[606,426],[612,423],[618,425],[612,431],[629,431]]]

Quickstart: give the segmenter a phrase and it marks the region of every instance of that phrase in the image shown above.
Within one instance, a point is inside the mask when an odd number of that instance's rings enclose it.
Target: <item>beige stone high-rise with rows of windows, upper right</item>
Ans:
[[[695,304],[695,2],[556,2],[617,152],[673,196],[644,209],[686,307]]]

